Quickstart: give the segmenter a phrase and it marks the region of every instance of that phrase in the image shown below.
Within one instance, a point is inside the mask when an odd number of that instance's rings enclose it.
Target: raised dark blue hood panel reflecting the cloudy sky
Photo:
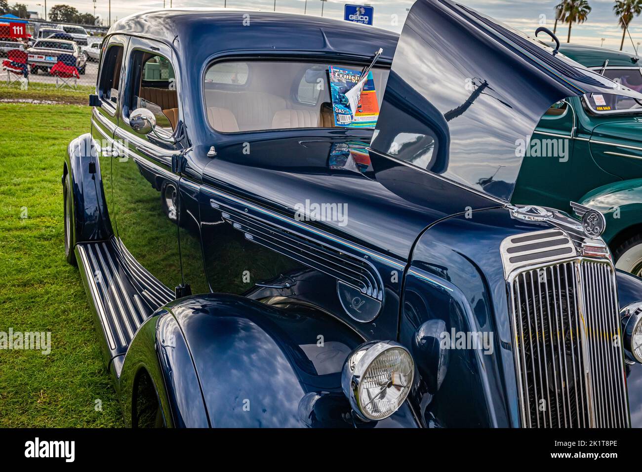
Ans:
[[[418,0],[399,39],[372,141],[377,153],[499,200],[537,123],[587,92],[637,92],[450,0]]]

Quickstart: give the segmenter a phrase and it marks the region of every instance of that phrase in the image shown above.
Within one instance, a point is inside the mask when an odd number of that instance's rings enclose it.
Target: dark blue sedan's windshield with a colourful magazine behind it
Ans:
[[[301,62],[218,62],[205,72],[207,119],[221,132],[374,128],[389,71],[371,70],[351,113],[345,92],[361,69]]]

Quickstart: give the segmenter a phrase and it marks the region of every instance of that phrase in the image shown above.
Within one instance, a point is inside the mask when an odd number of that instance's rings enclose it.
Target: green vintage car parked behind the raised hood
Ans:
[[[562,44],[560,53],[642,92],[638,57],[577,44]],[[553,105],[526,150],[513,200],[602,212],[616,267],[642,276],[642,103],[614,91]]]

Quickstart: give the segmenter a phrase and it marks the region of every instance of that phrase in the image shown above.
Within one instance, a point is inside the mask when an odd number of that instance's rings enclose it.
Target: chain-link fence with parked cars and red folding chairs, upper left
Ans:
[[[95,85],[105,32],[104,26],[0,18],[0,90]]]

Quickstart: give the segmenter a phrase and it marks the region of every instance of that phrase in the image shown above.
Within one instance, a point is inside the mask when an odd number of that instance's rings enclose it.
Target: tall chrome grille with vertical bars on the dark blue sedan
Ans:
[[[508,284],[523,426],[628,427],[611,263],[542,264]]]

